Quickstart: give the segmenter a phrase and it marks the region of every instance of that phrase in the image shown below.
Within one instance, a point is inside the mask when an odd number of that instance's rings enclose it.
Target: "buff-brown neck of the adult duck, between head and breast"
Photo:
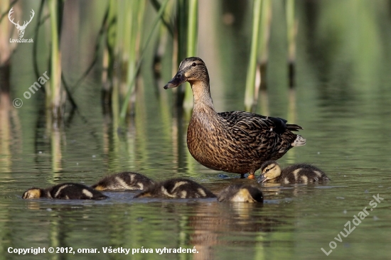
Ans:
[[[215,111],[212,97],[210,97],[209,81],[189,81],[189,83],[191,90],[193,90],[194,110],[211,109]]]

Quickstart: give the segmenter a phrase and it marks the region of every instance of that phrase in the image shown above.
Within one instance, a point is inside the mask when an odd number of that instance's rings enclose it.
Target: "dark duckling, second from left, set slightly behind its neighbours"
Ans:
[[[140,173],[123,172],[106,176],[91,188],[95,190],[144,190],[154,181]]]

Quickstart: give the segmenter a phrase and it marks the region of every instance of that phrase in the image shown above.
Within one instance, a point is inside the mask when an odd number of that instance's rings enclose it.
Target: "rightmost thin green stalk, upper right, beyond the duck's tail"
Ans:
[[[286,33],[288,38],[289,87],[294,87],[297,24],[294,18],[294,0],[286,0]]]

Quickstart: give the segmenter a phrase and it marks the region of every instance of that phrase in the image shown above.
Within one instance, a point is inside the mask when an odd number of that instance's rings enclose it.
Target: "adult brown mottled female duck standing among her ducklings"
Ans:
[[[302,129],[286,124],[278,117],[264,117],[249,112],[215,112],[210,97],[209,75],[200,58],[186,58],[175,77],[164,89],[189,82],[194,108],[188,126],[188,150],[203,166],[228,173],[250,173],[268,160],[277,160],[294,146],[304,146],[306,139],[292,131]]]

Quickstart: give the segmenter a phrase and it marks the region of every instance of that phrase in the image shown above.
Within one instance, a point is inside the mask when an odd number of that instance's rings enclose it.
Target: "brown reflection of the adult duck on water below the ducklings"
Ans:
[[[277,218],[262,215],[262,204],[259,203],[199,205],[195,215],[188,218],[190,244],[199,252],[194,254],[194,259],[215,259],[216,248],[222,246],[262,250],[259,241],[264,240],[264,233],[284,224]]]

